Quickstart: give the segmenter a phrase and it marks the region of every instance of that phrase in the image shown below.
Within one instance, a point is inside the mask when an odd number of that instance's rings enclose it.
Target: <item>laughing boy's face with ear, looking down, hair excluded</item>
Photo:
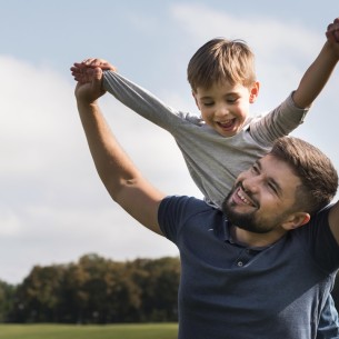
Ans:
[[[223,81],[209,89],[198,88],[193,97],[205,122],[222,137],[232,137],[242,129],[258,92],[259,82],[248,88]]]

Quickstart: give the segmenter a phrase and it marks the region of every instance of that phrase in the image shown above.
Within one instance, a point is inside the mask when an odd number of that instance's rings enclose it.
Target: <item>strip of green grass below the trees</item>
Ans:
[[[176,339],[177,323],[0,325],[1,339]]]

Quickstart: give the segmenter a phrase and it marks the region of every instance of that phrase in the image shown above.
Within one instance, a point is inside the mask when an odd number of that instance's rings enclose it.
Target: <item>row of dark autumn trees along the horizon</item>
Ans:
[[[177,321],[179,258],[34,266],[22,283],[0,281],[0,322]]]

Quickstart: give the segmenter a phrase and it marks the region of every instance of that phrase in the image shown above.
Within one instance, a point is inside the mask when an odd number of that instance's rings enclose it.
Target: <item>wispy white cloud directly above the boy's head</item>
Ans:
[[[270,17],[229,14],[228,11],[213,10],[203,4],[176,3],[171,7],[173,18],[181,29],[191,38],[209,40],[213,37],[243,39],[256,49],[272,53],[296,52],[308,56],[315,51],[315,46],[322,43],[323,32],[307,30],[299,23],[286,23]],[[275,60],[272,60],[275,61]]]

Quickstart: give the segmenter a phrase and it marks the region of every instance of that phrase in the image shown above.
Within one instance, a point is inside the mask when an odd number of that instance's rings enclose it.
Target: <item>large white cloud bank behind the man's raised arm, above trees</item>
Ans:
[[[77,260],[89,251],[116,259],[176,253],[106,192],[68,79],[11,58],[0,57],[0,64],[6,98],[0,103],[0,248],[12,262],[0,261],[0,279],[19,282],[34,263]],[[112,97],[102,99],[102,109],[151,181],[172,193],[180,181],[181,189],[193,187],[167,132]]]

